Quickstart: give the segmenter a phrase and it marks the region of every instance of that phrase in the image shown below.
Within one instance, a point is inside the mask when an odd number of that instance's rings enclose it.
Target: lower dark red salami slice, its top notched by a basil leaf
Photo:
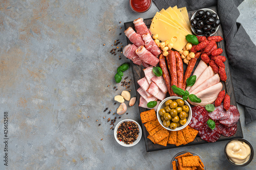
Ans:
[[[198,134],[201,139],[207,142],[216,142],[221,136],[220,129],[218,127],[216,127],[214,130],[211,130],[206,123],[200,128]]]

